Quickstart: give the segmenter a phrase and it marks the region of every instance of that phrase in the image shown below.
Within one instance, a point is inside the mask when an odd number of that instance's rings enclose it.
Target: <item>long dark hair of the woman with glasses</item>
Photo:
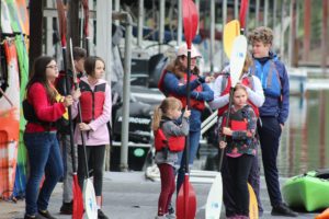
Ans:
[[[39,82],[45,87],[47,97],[50,101],[50,103],[55,103],[57,92],[54,89],[54,87],[49,83],[46,73],[47,66],[50,61],[55,61],[55,58],[50,56],[39,56],[35,59],[32,72],[30,74],[30,80],[26,84],[26,92],[29,92],[29,89],[33,83]]]

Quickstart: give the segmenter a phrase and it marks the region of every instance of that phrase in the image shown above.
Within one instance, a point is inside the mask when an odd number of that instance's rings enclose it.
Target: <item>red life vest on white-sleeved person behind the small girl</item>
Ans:
[[[226,80],[225,80],[225,77],[226,77]],[[224,80],[224,82],[222,83],[222,89],[224,88],[225,83],[226,83],[226,87],[225,87],[225,89],[223,89],[223,91],[220,93],[220,96],[228,94],[229,90],[230,90],[230,87],[231,87],[230,76],[223,76],[223,80]],[[253,90],[253,81],[252,80],[253,80],[252,76],[248,76],[248,77],[245,77],[241,82],[242,82],[243,85],[247,85],[251,90]],[[259,117],[259,110],[258,110],[258,107],[253,103],[251,103],[251,101],[249,101],[249,100],[248,100],[248,104],[254,111],[256,116]],[[218,108],[218,116],[223,116],[224,112],[227,111],[227,110],[228,110],[228,104],[226,104],[222,108]]]

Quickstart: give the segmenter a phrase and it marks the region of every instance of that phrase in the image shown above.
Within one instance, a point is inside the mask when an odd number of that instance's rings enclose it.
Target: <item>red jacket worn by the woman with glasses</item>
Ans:
[[[44,122],[56,122],[58,120],[63,114],[65,113],[64,103],[50,103],[50,100],[47,97],[45,87],[39,83],[35,82],[31,85],[27,91],[27,102],[33,106],[35,115],[38,119]],[[53,127],[50,130],[56,130]],[[47,131],[47,128],[35,123],[27,123],[26,132],[42,132]]]

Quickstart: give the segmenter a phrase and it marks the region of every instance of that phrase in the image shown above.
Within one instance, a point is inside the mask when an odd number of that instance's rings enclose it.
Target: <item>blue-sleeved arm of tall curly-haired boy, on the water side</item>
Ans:
[[[279,123],[283,126],[286,122],[290,113],[290,79],[285,69],[285,66],[281,64],[281,85],[282,85],[282,99],[280,104]]]

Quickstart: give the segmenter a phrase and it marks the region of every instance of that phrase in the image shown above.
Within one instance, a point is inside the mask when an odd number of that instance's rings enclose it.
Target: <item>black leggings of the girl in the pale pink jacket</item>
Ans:
[[[105,146],[86,146],[87,160],[89,171],[93,170],[93,186],[95,196],[102,195],[103,187],[103,164]],[[78,178],[79,185],[83,187],[83,180],[86,178],[86,159],[82,146],[78,146]]]

